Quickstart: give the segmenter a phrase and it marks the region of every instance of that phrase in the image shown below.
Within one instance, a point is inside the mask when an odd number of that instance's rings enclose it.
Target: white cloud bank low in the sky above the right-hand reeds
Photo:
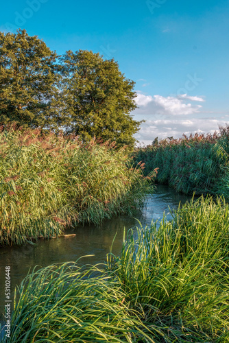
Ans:
[[[135,135],[144,144],[150,144],[155,137],[165,139],[182,134],[207,133],[213,134],[219,126],[225,126],[229,121],[229,113],[209,111],[201,105],[191,102],[204,103],[204,97],[182,95],[178,97],[162,97],[162,95],[145,95],[138,93],[136,104],[139,106],[133,115],[137,120],[147,119],[141,124],[141,129]]]

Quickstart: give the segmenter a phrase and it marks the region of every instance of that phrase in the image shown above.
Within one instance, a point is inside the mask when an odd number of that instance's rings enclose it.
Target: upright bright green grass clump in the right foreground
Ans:
[[[200,198],[134,236],[111,269],[154,342],[228,342],[228,204]]]

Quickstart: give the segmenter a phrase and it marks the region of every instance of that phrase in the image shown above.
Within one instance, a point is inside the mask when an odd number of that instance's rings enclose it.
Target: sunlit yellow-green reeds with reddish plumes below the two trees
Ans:
[[[153,191],[125,148],[39,130],[0,133],[0,246],[56,237],[64,227],[134,213]]]

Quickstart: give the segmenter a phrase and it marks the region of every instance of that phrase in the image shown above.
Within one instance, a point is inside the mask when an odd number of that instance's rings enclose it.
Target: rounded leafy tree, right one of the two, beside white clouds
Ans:
[[[67,51],[62,62],[68,131],[80,134],[84,141],[101,137],[119,146],[133,146],[133,134],[141,123],[130,115],[136,108],[136,93],[134,82],[119,71],[118,63],[84,50]]]

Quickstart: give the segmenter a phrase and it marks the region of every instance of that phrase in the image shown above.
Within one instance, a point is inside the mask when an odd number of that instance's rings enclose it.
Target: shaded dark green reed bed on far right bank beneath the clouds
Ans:
[[[134,161],[145,163],[145,173],[159,168],[157,181],[185,194],[222,194],[229,198],[229,126],[219,134],[195,134],[165,139],[134,152]],[[226,180],[222,180],[226,176]],[[227,186],[228,188],[228,186]],[[221,191],[219,191],[219,189]],[[229,188],[228,188],[229,189]]]

